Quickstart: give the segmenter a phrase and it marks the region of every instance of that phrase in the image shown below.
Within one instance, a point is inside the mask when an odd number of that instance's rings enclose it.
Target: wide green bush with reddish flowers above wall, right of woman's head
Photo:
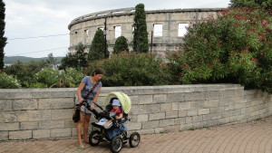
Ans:
[[[95,61],[89,64],[86,73],[101,67],[105,74],[103,86],[147,86],[167,83],[165,66],[155,54],[118,53],[110,59]]]

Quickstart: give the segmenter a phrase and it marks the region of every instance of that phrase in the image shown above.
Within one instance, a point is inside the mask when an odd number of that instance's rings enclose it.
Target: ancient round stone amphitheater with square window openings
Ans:
[[[209,15],[216,17],[216,14],[222,9],[224,8],[146,11],[150,51],[177,51],[180,43],[182,43],[183,35],[187,33],[187,26],[191,26],[202,17],[205,18]],[[134,12],[134,7],[121,8],[85,14],[73,19],[71,24],[68,25],[70,30],[69,51],[74,53],[74,46],[78,43],[83,43],[90,47],[97,29],[104,31],[110,53],[112,53],[113,45],[119,36],[125,36],[128,39],[131,51]],[[106,28],[104,29],[104,27]]]

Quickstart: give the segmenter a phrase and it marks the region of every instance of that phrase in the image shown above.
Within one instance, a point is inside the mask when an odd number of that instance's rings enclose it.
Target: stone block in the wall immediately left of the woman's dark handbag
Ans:
[[[72,119],[73,109],[51,110],[52,120]]]

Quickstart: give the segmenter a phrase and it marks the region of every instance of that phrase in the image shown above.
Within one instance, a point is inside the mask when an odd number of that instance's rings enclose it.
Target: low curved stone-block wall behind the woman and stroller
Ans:
[[[0,140],[75,138],[75,91],[1,89]],[[236,124],[272,114],[271,94],[245,91],[237,84],[103,87],[100,104],[111,91],[131,97],[127,126],[141,134]]]

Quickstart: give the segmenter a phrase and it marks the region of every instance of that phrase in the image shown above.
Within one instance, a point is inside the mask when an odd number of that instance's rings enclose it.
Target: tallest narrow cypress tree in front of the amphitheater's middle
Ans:
[[[133,27],[133,51],[147,53],[149,51],[149,39],[143,4],[136,5],[135,7]]]

